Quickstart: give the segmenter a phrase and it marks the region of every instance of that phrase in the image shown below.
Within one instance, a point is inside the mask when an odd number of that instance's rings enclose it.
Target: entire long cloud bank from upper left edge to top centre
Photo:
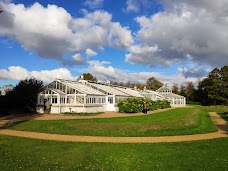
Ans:
[[[0,15],[0,35],[13,38],[41,57],[64,63],[65,54],[104,46],[124,49],[133,43],[131,31],[118,22],[112,22],[112,16],[105,11],[73,18],[56,5],[0,4],[4,10]]]

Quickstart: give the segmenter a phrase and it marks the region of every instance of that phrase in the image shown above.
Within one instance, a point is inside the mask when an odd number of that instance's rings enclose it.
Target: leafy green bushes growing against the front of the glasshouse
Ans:
[[[149,110],[164,109],[170,107],[167,100],[153,101],[149,98],[126,98],[118,102],[119,112],[122,113],[139,113],[142,112],[143,103],[146,102]]]

